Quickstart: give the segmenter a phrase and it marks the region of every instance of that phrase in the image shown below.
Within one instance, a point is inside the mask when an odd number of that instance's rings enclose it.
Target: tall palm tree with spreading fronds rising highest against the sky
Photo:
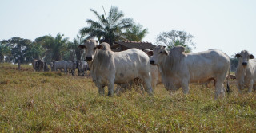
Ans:
[[[86,22],[90,25],[80,30],[81,34],[87,34],[87,39],[97,37],[100,42],[107,42],[113,45],[114,41],[124,39],[125,29],[130,28],[133,25],[131,18],[123,18],[122,11],[118,11],[118,7],[111,6],[108,16],[98,14],[96,10],[90,9],[98,21],[87,19]],[[105,10],[104,10],[105,12]]]

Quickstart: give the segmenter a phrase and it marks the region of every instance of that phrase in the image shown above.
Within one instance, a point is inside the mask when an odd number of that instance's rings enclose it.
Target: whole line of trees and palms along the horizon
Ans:
[[[30,63],[34,59],[43,59],[46,62],[78,61],[83,60],[83,51],[78,49],[78,45],[81,45],[85,39],[96,38],[100,43],[107,42],[113,45],[114,41],[142,41],[148,33],[148,29],[143,29],[143,26],[136,24],[132,18],[124,18],[124,14],[116,6],[112,6],[108,14],[105,10],[103,14],[93,9],[90,11],[97,19],[87,19],[88,26],[82,28],[73,41],[69,41],[69,38],[64,37],[62,33],[58,33],[55,37],[52,35],[38,37],[34,41],[12,37],[0,41],[0,60],[14,63],[18,61]],[[193,38],[193,35],[185,31],[171,30],[160,33],[155,43],[166,45],[169,49],[183,45],[186,52],[190,53],[195,48]]]

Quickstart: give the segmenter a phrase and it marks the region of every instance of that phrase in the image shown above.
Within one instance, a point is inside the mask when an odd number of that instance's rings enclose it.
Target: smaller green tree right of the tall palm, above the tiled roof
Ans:
[[[126,29],[125,37],[129,41],[142,41],[148,33],[148,29],[142,29],[142,25],[133,25],[130,29]]]

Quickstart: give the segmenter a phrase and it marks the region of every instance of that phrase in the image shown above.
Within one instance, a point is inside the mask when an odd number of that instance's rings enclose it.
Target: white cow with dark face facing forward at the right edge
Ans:
[[[256,89],[256,60],[254,55],[243,50],[235,55],[238,57],[238,68],[235,72],[237,79],[238,92],[242,92],[244,87],[248,88],[248,92]]]

